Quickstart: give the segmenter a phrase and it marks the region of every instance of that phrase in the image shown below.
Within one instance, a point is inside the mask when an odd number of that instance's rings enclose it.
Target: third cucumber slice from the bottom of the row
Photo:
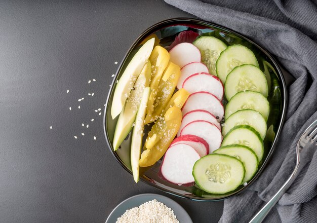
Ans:
[[[262,160],[264,154],[263,140],[260,134],[251,126],[240,125],[232,128],[224,137],[221,146],[231,144],[248,146],[256,154],[258,161]]]

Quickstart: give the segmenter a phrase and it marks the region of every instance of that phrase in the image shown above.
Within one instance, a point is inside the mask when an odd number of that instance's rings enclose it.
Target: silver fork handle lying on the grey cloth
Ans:
[[[262,209],[249,221],[249,223],[260,223],[264,220],[268,212],[274,207],[276,203],[280,200],[280,198],[285,194],[287,189],[289,189],[290,185],[295,180],[298,171],[299,165],[296,164],[294,171],[292,172],[291,176],[286,180],[283,184],[282,188],[276,192],[276,194],[262,207]]]

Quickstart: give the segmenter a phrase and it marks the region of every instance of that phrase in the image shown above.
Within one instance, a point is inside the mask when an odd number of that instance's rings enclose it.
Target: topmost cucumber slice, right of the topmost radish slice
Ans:
[[[209,73],[217,75],[216,61],[220,53],[227,48],[227,45],[214,36],[201,36],[192,44],[201,52],[202,62],[208,67]]]

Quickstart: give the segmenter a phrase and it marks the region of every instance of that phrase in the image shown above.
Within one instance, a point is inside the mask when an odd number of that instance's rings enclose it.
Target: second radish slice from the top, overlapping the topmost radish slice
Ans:
[[[208,72],[208,67],[201,62],[191,62],[183,66],[180,70],[180,77],[176,85],[177,89],[181,89],[183,82],[194,73]]]

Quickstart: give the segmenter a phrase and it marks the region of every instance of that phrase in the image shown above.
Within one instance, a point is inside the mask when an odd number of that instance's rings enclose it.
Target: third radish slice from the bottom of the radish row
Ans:
[[[196,135],[205,139],[209,145],[209,154],[220,147],[222,141],[221,131],[214,124],[198,120],[187,124],[180,135]]]

